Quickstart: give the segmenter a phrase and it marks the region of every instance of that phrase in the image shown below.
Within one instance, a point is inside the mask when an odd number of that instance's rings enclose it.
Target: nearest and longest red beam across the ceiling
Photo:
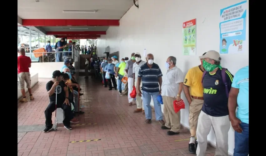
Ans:
[[[119,20],[106,19],[22,19],[22,26],[119,26]]]

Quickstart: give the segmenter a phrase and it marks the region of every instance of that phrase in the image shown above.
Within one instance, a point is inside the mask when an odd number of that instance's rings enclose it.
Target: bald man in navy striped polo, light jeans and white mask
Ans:
[[[146,124],[151,123],[151,97],[154,104],[155,109],[155,117],[156,120],[159,121],[161,125],[164,125],[163,116],[161,112],[161,104],[157,101],[157,96],[161,94],[161,86],[162,86],[162,73],[160,67],[153,63],[154,57],[152,54],[148,54],[146,56],[147,63],[142,65],[140,71],[138,73],[137,80],[137,94],[141,95],[141,90],[143,94],[143,104],[145,108],[146,115]],[[140,85],[142,82],[142,87],[140,89]],[[159,83],[159,85],[158,85]]]

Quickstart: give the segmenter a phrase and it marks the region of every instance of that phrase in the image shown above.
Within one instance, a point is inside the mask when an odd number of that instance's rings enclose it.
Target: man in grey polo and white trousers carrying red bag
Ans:
[[[135,53],[131,54],[131,59],[126,62],[125,72],[127,73],[127,86],[128,86],[128,106],[132,106],[133,98],[130,97],[130,93],[133,90],[134,78],[133,78],[133,64],[136,62]]]

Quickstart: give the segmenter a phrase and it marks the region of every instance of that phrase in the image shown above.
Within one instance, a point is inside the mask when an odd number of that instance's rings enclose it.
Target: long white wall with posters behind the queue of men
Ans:
[[[129,57],[132,52],[140,52],[146,49],[152,53],[154,61],[163,73],[168,56],[177,58],[177,66],[187,73],[188,69],[200,64],[198,56],[208,50],[219,51],[220,43],[220,9],[242,2],[242,0],[139,0],[139,9],[132,6],[120,19],[119,31],[110,27],[106,35],[101,35],[102,41],[97,41],[97,48],[110,46],[110,49],[119,49],[120,58]],[[248,1],[249,3],[249,1]],[[249,9],[247,4],[246,40],[249,41]],[[183,56],[182,54],[182,23],[197,18],[197,55]],[[114,30],[111,32],[111,30]],[[102,38],[103,36],[103,38]],[[116,39],[116,41],[115,41]],[[98,44],[100,43],[100,44]],[[223,54],[222,66],[235,74],[236,71],[248,65],[248,52],[242,54]],[[162,51],[161,51],[162,50]],[[143,56],[142,56],[143,57]],[[163,77],[164,79],[164,77]],[[182,99],[186,99],[182,93]],[[189,127],[189,105],[186,101],[186,109],[181,110],[181,122]],[[213,131],[208,135],[208,140],[215,144]],[[229,131],[229,153],[233,153],[234,135]]]

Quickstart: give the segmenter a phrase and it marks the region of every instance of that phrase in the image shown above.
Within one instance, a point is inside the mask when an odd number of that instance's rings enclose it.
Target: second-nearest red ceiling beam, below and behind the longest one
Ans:
[[[46,35],[106,35],[105,31],[86,31],[86,32],[46,32]]]

